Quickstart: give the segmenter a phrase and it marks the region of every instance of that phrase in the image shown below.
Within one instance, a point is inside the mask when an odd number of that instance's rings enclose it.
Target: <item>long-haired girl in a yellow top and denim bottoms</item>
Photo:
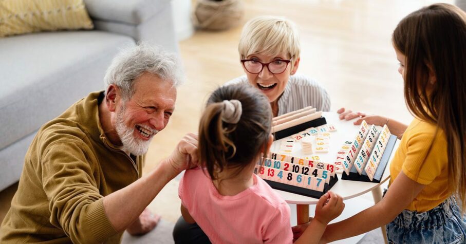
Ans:
[[[393,46],[406,104],[416,119],[406,126],[380,116],[364,118],[388,122],[401,138],[388,191],[373,207],[330,224],[322,242],[387,224],[390,243],[464,243],[466,13],[449,4],[415,11],[398,24]],[[310,234],[308,228],[299,241]]]

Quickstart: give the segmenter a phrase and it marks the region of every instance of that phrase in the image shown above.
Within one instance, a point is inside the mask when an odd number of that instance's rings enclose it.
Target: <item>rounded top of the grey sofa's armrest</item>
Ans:
[[[170,0],[84,0],[94,20],[139,25],[163,11]]]

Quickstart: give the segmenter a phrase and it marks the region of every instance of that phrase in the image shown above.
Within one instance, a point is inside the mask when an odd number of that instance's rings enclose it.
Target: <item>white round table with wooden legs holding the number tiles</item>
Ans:
[[[355,120],[346,121],[340,120],[338,118],[338,114],[335,112],[323,112],[323,117],[325,117],[327,121],[327,125],[335,125],[337,127],[336,132],[332,132],[330,136],[330,145],[329,151],[326,154],[313,154],[313,156],[318,155],[320,160],[323,162],[334,162],[336,159],[337,152],[340,151],[342,144],[345,141],[352,141],[356,137],[358,133],[358,129],[360,125],[354,125],[353,122]],[[289,138],[289,137],[287,137]],[[279,147],[281,145],[281,141],[287,138],[283,138],[280,140],[275,141],[272,144],[271,151],[278,152]],[[330,191],[340,195],[343,197],[343,200],[347,200],[353,197],[357,197],[363,195],[369,191],[372,191],[372,196],[374,197],[374,202],[377,203],[382,200],[382,191],[380,185],[384,183],[386,180],[390,178],[390,161],[398,148],[399,140],[395,144],[395,147],[392,151],[392,155],[390,155],[390,159],[388,164],[385,168],[384,174],[380,183],[372,183],[372,182],[360,182],[360,181],[351,181],[351,180],[342,180],[342,174],[337,173],[338,181],[333,185]],[[293,147],[293,156],[296,157],[309,157],[310,155],[304,155],[301,150],[301,143],[296,141]],[[307,197],[299,194],[284,192],[275,190],[278,194],[280,194],[287,203],[296,204],[296,213],[297,213],[297,223],[302,224],[309,221],[309,204],[316,204],[319,199],[313,197]],[[386,231],[385,227],[382,227],[382,233],[386,240]]]

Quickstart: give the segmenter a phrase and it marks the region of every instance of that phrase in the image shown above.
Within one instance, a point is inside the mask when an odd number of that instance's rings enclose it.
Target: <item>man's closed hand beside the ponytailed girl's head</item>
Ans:
[[[192,168],[198,165],[198,140],[197,134],[189,133],[185,135],[172,155],[166,161],[173,167],[174,173],[178,175],[183,170]]]

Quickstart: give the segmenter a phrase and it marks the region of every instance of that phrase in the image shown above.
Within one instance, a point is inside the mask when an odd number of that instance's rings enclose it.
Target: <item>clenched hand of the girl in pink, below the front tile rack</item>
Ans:
[[[328,222],[340,216],[345,208],[343,198],[331,191],[324,194],[315,207],[314,220],[327,225]]]

